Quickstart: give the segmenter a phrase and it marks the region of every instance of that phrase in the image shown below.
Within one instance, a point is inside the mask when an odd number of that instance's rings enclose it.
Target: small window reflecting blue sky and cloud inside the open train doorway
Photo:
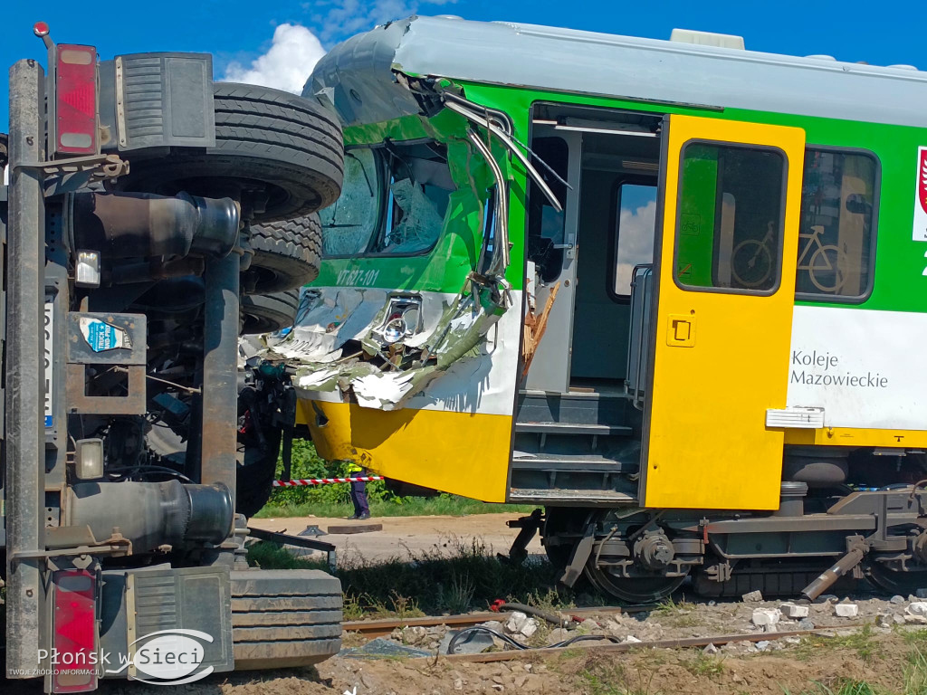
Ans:
[[[634,267],[654,262],[656,185],[621,183],[616,191],[613,293],[630,297]]]

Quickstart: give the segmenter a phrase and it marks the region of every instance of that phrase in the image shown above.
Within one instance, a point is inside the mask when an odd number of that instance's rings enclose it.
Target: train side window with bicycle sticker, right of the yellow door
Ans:
[[[879,169],[870,152],[806,149],[797,297],[850,302],[869,297]]]

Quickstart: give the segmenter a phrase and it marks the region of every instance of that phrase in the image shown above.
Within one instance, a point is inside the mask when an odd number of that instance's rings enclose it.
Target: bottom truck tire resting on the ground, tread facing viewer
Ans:
[[[309,666],[341,649],[341,582],[320,570],[236,570],[235,669]]]

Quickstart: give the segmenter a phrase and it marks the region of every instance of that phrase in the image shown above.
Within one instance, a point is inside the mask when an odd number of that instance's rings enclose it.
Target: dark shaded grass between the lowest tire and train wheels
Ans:
[[[574,605],[574,593],[557,588],[550,562],[503,562],[478,539],[449,539],[446,548],[409,552],[386,562],[352,558],[337,577],[345,599],[345,619],[485,611],[493,600],[527,603],[556,612]],[[248,563],[262,569],[322,569],[321,560],[303,560],[271,542],[248,547]],[[405,597],[415,597],[411,600]]]

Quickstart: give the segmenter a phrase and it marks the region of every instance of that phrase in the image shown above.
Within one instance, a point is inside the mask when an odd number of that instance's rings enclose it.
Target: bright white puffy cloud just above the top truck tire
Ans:
[[[299,24],[281,24],[273,32],[273,42],[263,56],[249,68],[230,63],[223,82],[247,82],[301,94],[312,68],[325,55],[319,39]]]

